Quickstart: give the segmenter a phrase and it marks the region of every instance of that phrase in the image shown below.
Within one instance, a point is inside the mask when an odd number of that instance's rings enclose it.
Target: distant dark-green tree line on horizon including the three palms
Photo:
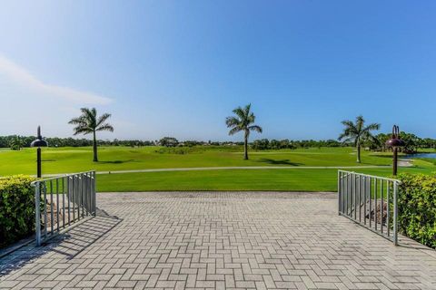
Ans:
[[[361,161],[361,149],[365,150],[390,150],[386,146],[386,141],[391,138],[390,133],[379,133],[373,135],[372,131],[378,131],[380,124],[371,123],[365,124],[362,116],[358,116],[356,121],[342,121],[344,126],[338,140],[254,140],[249,142],[250,132],[255,131],[262,133],[261,126],[254,124],[255,115],[251,111],[251,104],[244,107],[237,107],[233,110],[233,116],[229,116],[225,120],[225,124],[230,129],[229,135],[237,132],[243,132],[242,142],[224,141],[216,142],[209,140],[208,142],[198,140],[179,140],[173,137],[163,137],[161,140],[97,140],[97,131],[114,131],[114,127],[106,121],[111,117],[111,114],[104,113],[97,115],[95,108],[82,108],[81,115],[69,121],[74,125],[74,135],[92,134],[92,140],[74,139],[74,138],[45,138],[51,147],[84,147],[93,146],[94,161],[98,161],[97,146],[154,146],[160,145],[165,147],[193,147],[202,145],[243,145],[243,159],[248,160],[248,148],[253,150],[281,150],[281,149],[297,149],[297,148],[321,148],[321,147],[346,147],[354,146],[357,149],[357,162]],[[29,147],[31,142],[35,140],[35,136],[0,136],[0,148],[11,148],[20,150],[23,147]],[[414,134],[401,131],[400,139],[404,141],[405,146],[400,150],[405,153],[415,153],[418,149],[436,149],[436,140],[431,138],[420,138]]]

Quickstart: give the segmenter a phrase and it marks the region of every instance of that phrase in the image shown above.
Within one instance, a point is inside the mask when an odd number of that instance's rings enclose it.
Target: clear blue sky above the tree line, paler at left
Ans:
[[[82,107],[100,139],[336,139],[362,114],[436,138],[434,1],[2,1],[0,135],[71,137]]]

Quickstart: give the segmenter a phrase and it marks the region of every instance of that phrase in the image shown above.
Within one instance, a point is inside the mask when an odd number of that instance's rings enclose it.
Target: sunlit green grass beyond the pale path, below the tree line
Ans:
[[[0,151],[0,176],[35,174],[35,149]],[[383,156],[383,155],[381,155]],[[389,165],[390,158],[362,152],[362,165]],[[101,147],[100,162],[92,161],[92,148],[47,148],[43,150],[43,172],[71,173],[125,169],[163,169],[216,166],[355,166],[352,148],[252,151],[243,160],[241,147]]]

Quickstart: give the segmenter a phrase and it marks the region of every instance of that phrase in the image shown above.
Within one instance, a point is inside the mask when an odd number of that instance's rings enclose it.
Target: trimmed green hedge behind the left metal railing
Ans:
[[[27,176],[0,179],[0,247],[35,232],[35,188]]]

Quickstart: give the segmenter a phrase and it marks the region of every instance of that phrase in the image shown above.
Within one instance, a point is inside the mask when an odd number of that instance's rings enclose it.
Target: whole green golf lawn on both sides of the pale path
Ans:
[[[92,161],[92,148],[47,148],[43,150],[45,174],[80,172],[90,169],[173,169],[193,167],[278,166],[295,169],[219,169],[122,174],[99,174],[99,191],[143,190],[336,190],[337,169],[298,169],[304,166],[379,166],[391,164],[391,153],[362,151],[362,163],[355,161],[352,148],[251,151],[243,160],[241,147],[99,148],[100,162]],[[0,175],[35,174],[35,150],[0,150]],[[430,173],[436,165],[417,160],[414,168],[400,171]],[[390,176],[391,169],[352,169]]]

